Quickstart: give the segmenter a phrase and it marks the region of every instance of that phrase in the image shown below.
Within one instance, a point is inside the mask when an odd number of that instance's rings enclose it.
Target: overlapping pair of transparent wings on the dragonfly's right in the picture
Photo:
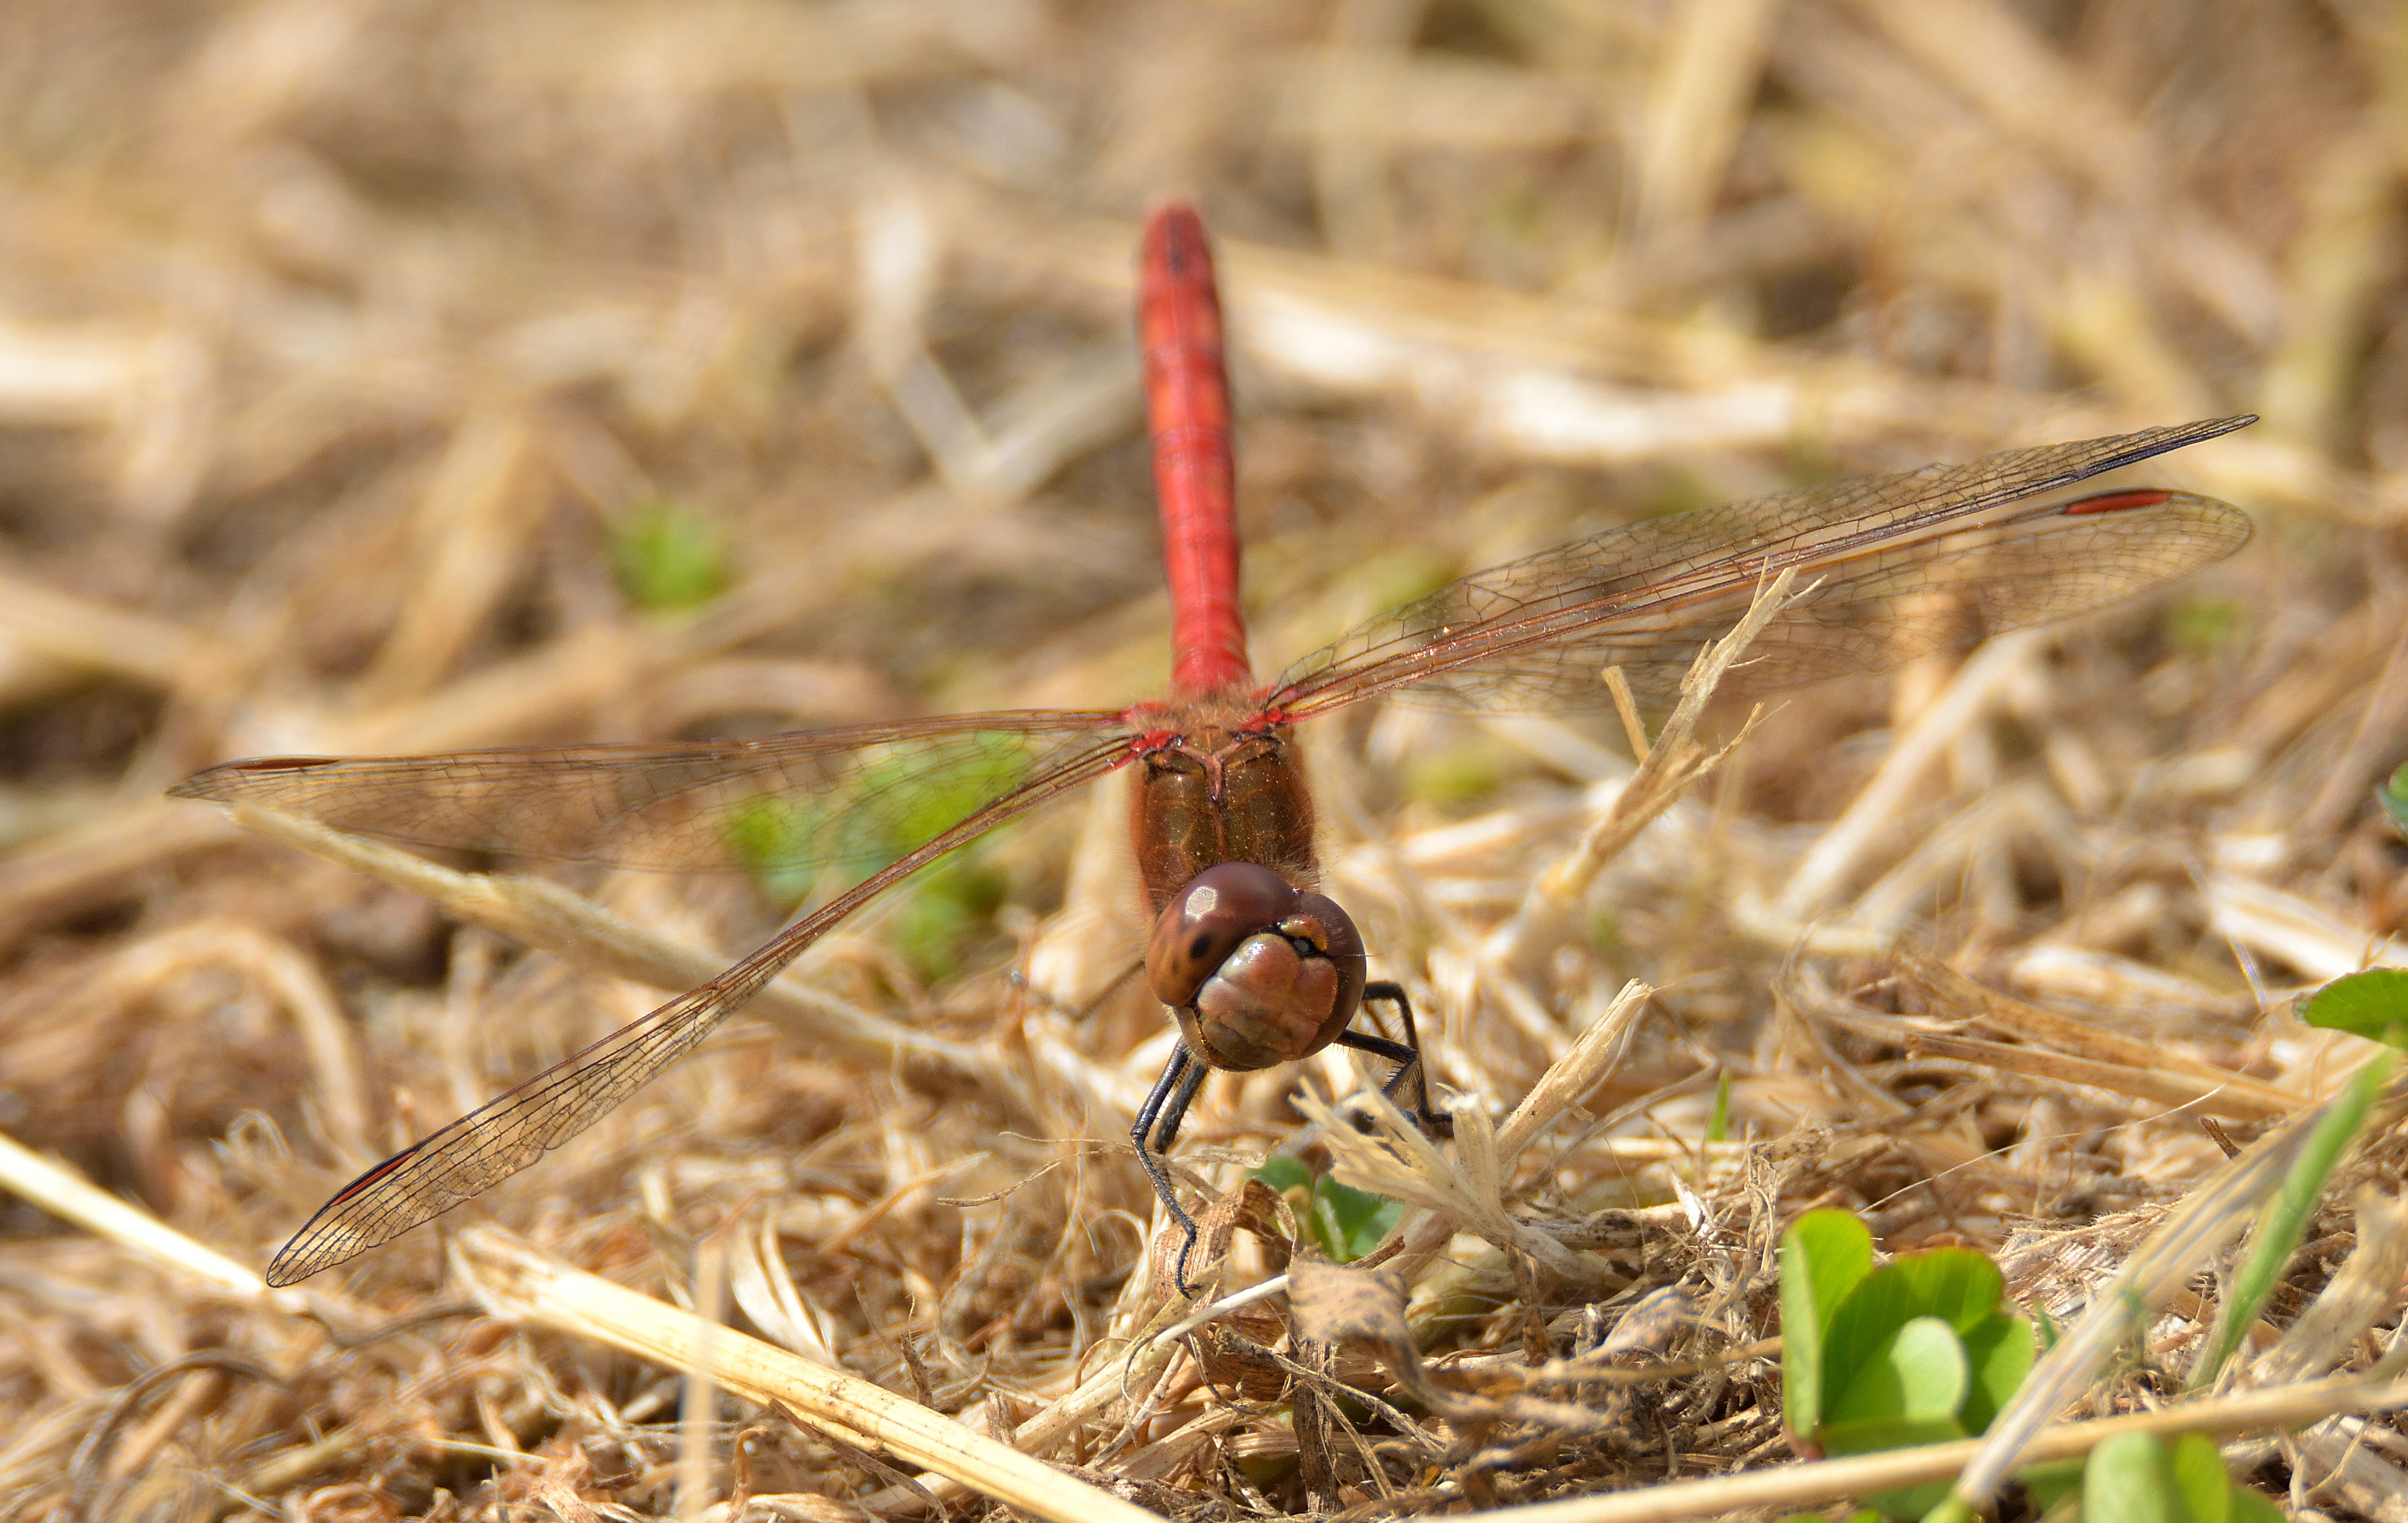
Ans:
[[[1792,565],[1813,589],[1758,635],[1731,691],[1878,671],[2100,609],[2230,556],[2249,517],[2191,493],[2117,493],[2112,510],[2076,512],[2030,498],[2249,421],[2006,450],[1609,529],[1373,618],[1298,662],[1271,703],[1308,715],[1411,688],[1413,703],[1457,710],[1606,707],[1609,664],[1662,703]]]

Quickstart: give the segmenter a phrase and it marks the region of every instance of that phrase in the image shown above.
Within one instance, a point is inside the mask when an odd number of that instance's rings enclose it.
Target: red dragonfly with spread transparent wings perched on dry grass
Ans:
[[[1146,219],[1139,344],[1173,609],[1170,691],[1115,710],[1004,710],[749,741],[595,743],[402,758],[279,755],[209,768],[183,799],[275,808],[419,847],[653,871],[809,871],[877,861],[759,950],[376,1165],[277,1251],[291,1285],[537,1162],[694,1049],[848,914],[946,852],[1117,770],[1151,914],[1146,982],[1178,1023],[1129,1131],[1187,1290],[1197,1227],[1165,1155],[1204,1080],[1329,1044],[1394,1061],[1387,1092],[1433,1133],[1411,1003],[1373,982],[1317,890],[1296,727],[1370,698],[1457,712],[1601,710],[1621,666],[1666,703],[1695,654],[1782,570],[1804,587],[1727,678],[1760,693],[1881,671],[2068,618],[2189,575],[2249,517],[2167,488],[2056,496],[2254,416],[2006,450],[1642,520],[1510,561],[1380,614],[1262,683],[1238,597],[1221,303],[1187,205]],[[1392,1003],[1404,1039],[1353,1027]]]

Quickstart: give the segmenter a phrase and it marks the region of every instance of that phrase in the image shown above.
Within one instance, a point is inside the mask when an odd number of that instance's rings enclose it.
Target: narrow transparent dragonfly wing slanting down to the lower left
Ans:
[[[992,717],[992,715],[990,715]],[[595,748],[588,748],[595,751]],[[270,1285],[291,1285],[323,1268],[409,1232],[494,1184],[525,1169],[547,1150],[585,1131],[655,1073],[751,998],[819,936],[889,885],[1002,820],[1026,813],[1103,772],[1125,755],[1122,743],[1088,743],[1028,777],[1009,794],[956,820],[901,859],[879,869],[807,919],[780,931],[713,982],[679,994],[585,1051],[537,1073],[508,1095],[460,1116],[426,1140],[388,1157],[347,1184],[267,1266]]]

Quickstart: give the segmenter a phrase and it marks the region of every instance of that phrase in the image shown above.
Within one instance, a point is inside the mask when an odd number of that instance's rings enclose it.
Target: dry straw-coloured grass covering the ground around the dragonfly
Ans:
[[[0,82],[0,1513],[1387,1516],[1763,1470],[1799,1210],[2001,1249],[2073,1316],[2223,1201],[2199,1116],[2280,1136],[2357,1061],[2288,996],[2408,962],[2369,806],[2408,758],[2398,7],[22,0]],[[1433,1208],[1404,1347],[1276,1294],[1149,1340],[1120,1138],[1165,1023],[1110,787],[985,852],[961,924],[860,917],[489,1201],[265,1292],[344,1177],[778,912],[340,866],[161,789],[1146,695],[1165,192],[1221,238],[1264,671],[1609,522],[2223,411],[2266,421],[2150,479],[2259,537],[1804,691],[1700,782],[1712,710],[1652,823],[1611,712],[1322,722],[1332,890],[1466,1138],[1322,1138],[1305,1090],[1363,1088],[1327,1054],[1216,1083],[1180,1160],[1228,1287],[1279,1268],[1283,1203],[1230,1189],[1269,1150]],[[739,546],[686,616],[612,570],[662,498]],[[2261,1379],[2372,1359],[2384,1210],[2336,1191]],[[2083,1410],[2150,1405],[2213,1309],[2189,1278]],[[2280,1410],[2382,1405],[2348,1391]],[[2403,1456],[2377,1417],[2244,1463],[2394,1518]],[[1611,1516],[1828,1497],[1751,1485]]]

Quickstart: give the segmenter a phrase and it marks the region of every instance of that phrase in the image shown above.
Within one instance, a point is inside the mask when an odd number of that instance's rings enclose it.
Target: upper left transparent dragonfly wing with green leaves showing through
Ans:
[[[653,871],[869,871],[1064,760],[1112,751],[1122,729],[1112,712],[1043,710],[761,741],[265,758],[171,792],[419,847]]]

